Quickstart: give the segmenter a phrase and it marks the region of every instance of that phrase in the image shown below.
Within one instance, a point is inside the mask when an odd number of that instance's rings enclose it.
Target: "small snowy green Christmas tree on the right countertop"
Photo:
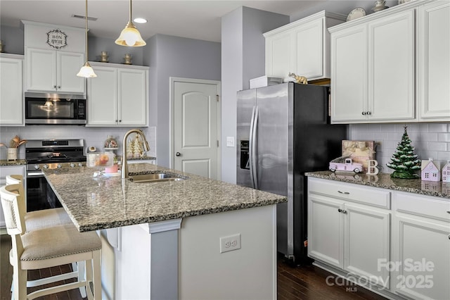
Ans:
[[[420,159],[417,154],[414,154],[414,147],[411,146],[406,126],[401,142],[397,144],[397,150],[392,154],[390,163],[386,163],[386,165],[388,168],[394,169],[394,173],[391,174],[393,178],[420,178],[414,173],[416,170],[420,170]]]

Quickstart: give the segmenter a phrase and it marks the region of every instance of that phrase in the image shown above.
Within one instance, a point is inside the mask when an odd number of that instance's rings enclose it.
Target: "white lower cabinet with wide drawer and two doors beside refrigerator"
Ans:
[[[378,260],[390,260],[390,192],[317,178],[308,185],[308,255],[389,288]]]

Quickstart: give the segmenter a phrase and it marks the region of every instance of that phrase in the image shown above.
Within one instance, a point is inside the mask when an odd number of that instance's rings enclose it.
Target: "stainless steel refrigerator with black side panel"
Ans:
[[[341,155],[347,125],[330,125],[329,89],[287,82],[237,94],[238,185],[288,196],[277,205],[278,252],[307,259],[307,178]]]

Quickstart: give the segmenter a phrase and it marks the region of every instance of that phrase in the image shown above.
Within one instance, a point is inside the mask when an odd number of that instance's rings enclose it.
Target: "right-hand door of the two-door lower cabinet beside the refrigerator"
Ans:
[[[379,260],[390,261],[390,212],[345,204],[344,269],[389,288],[389,271]]]

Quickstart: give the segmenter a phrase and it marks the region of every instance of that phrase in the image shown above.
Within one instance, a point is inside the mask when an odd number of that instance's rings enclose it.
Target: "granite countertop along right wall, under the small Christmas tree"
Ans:
[[[335,180],[354,183],[356,185],[368,185],[394,189],[401,192],[410,192],[428,196],[437,196],[450,199],[450,182],[432,182],[419,179],[391,178],[390,174],[378,173],[378,175],[333,173],[331,171],[319,171],[305,173],[309,177],[317,177],[326,180]]]

